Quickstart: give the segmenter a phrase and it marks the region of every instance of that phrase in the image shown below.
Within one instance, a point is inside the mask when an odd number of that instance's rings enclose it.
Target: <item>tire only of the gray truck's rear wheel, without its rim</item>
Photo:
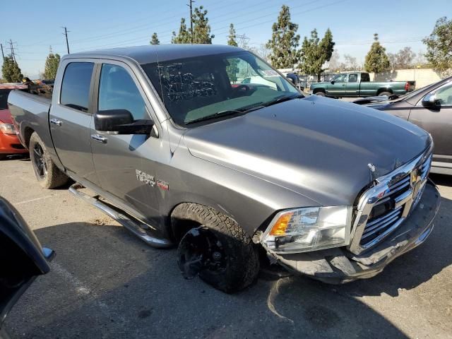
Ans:
[[[44,176],[40,176],[38,174],[37,166],[35,165],[35,158],[37,157],[36,153],[34,152],[35,145],[39,144],[42,148],[43,153],[43,160],[45,162],[45,165],[47,167],[47,172],[44,174]],[[37,181],[40,183],[42,188],[44,189],[55,189],[59,186],[62,186],[68,182],[68,177],[66,174],[61,172],[61,170],[57,167],[57,165],[54,164],[52,161],[52,158],[49,155],[49,152],[47,152],[47,148],[45,148],[44,143],[42,142],[40,136],[37,135],[36,132],[33,132],[30,137],[30,144],[28,145],[28,148],[30,149],[30,160],[32,163],[33,170],[35,172]]]

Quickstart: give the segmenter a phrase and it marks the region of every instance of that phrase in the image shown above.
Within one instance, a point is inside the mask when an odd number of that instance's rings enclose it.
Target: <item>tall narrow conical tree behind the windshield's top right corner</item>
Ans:
[[[268,59],[276,69],[290,69],[298,64],[299,35],[298,25],[290,21],[289,7],[283,5],[278,21],[272,25],[272,37],[267,42],[270,49]]]

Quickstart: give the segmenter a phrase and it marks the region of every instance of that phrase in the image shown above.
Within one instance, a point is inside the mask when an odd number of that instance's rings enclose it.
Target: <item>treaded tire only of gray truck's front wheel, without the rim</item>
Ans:
[[[199,277],[202,280],[226,293],[238,292],[254,283],[259,272],[258,251],[235,220],[213,208],[182,203],[174,208],[172,222],[182,225],[184,220],[208,227],[221,242],[227,257],[224,271],[201,270]]]

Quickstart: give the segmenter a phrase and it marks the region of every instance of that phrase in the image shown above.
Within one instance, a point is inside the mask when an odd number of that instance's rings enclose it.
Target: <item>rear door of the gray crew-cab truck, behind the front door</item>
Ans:
[[[64,167],[97,184],[90,144],[94,63],[76,59],[64,63],[64,73],[59,74],[61,85],[54,92],[50,109],[50,132]]]

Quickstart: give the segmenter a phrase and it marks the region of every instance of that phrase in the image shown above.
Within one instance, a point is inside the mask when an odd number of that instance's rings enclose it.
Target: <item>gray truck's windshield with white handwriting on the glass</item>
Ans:
[[[213,54],[142,65],[179,125],[234,117],[299,95],[268,64],[249,52]]]

